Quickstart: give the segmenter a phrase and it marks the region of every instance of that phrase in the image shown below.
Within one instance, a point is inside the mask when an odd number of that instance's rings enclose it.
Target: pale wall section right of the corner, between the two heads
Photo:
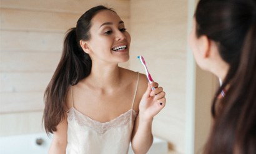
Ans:
[[[130,69],[144,72],[135,57],[144,55],[152,78],[164,87],[167,103],[154,118],[153,133],[175,153],[200,153],[210,129],[210,102],[216,78],[196,66],[187,44],[197,0],[130,0]],[[139,67],[138,67],[139,66]]]

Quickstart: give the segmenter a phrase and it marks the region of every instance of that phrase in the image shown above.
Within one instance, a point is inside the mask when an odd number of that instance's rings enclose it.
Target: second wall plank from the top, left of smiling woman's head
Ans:
[[[0,9],[1,29],[19,31],[66,32],[76,26],[81,14]]]

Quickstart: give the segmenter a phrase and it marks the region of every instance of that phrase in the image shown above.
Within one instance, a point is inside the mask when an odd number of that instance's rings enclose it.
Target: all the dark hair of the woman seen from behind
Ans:
[[[212,103],[214,126],[204,153],[256,153],[256,1],[200,0],[195,20],[197,36],[215,41],[230,66]]]

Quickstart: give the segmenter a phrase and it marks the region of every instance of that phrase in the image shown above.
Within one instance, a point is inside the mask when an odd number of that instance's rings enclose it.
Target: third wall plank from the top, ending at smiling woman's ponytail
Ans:
[[[2,51],[61,51],[64,33],[2,31]]]

